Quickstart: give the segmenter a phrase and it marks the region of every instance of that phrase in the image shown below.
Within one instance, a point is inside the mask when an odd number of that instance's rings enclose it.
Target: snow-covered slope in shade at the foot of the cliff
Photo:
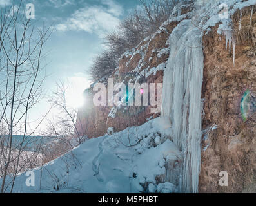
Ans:
[[[162,117],[87,140],[34,169],[34,187],[26,186],[32,176],[19,174],[14,192],[179,192],[182,154],[171,135],[170,120]]]

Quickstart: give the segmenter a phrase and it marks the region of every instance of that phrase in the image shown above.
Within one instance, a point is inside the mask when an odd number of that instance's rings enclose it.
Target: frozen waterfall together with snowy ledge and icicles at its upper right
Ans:
[[[235,65],[236,39],[231,16],[235,11],[256,3],[249,1],[194,1],[189,20],[183,20],[170,35],[170,57],[164,71],[161,116],[172,122],[173,142],[184,155],[182,189],[198,191],[201,164],[202,78],[204,55],[202,36],[219,24],[218,33],[226,37],[226,48],[233,50]],[[226,18],[220,17],[221,4],[228,9]],[[240,19],[242,12],[240,12]],[[239,30],[241,30],[241,20]]]

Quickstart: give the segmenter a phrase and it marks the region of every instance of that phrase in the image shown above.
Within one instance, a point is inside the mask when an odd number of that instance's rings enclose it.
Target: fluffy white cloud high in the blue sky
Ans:
[[[110,32],[119,25],[119,16],[123,12],[121,5],[112,0],[101,1],[103,5],[80,8],[66,20],[65,23],[57,24],[59,31],[84,31],[96,33],[100,37]]]

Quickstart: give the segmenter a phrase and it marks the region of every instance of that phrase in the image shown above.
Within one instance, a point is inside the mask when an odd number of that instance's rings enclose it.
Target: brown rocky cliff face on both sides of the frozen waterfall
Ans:
[[[241,24],[240,10],[233,15],[237,44],[235,65],[232,53],[226,48],[224,35],[217,33],[219,25],[205,33],[202,38],[204,135],[199,192],[256,192],[256,115],[250,116],[245,122],[241,115],[244,93],[248,90],[256,93],[254,12],[255,10],[251,15],[251,6],[243,8]],[[162,83],[169,57],[166,50],[169,47],[168,36],[178,23],[168,23],[168,32],[159,31],[135,49],[124,53],[119,60],[119,67],[112,74],[114,82],[129,82],[144,71],[148,75],[140,77],[138,82]],[[101,82],[106,84],[106,79]],[[109,127],[121,131],[129,126],[144,124],[150,117],[159,116],[159,113],[150,113],[151,106],[95,107],[92,102],[92,87],[84,93],[86,104],[79,110],[77,118],[77,127],[89,138],[103,136]],[[228,173],[228,187],[219,185],[221,171]]]

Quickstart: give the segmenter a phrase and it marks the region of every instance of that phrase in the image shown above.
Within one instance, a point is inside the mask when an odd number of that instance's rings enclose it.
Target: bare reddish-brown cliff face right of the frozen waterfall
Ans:
[[[255,12],[255,11],[254,11]],[[233,15],[237,46],[235,66],[217,26],[203,37],[204,98],[200,192],[256,192],[256,116],[242,120],[244,92],[256,90],[256,15],[251,6]],[[212,128],[212,129],[211,129]],[[228,187],[221,187],[219,173],[228,173]]]

